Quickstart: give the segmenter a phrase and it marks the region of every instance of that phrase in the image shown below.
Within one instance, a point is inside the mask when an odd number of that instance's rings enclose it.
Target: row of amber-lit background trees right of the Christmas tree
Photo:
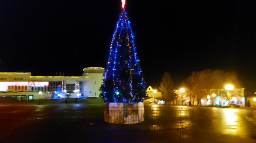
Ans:
[[[197,101],[200,102],[200,99],[204,95],[209,95],[212,90],[214,90],[216,95],[220,95],[221,89],[223,89],[226,84],[232,84],[236,88],[243,88],[241,81],[237,78],[236,72],[224,72],[222,70],[192,72],[191,75],[182,82],[182,87],[188,91],[193,104],[195,97]],[[174,103],[177,103],[180,100],[175,93],[174,82],[168,72],[164,73],[159,90],[162,92],[162,98],[165,101],[176,101]],[[199,102],[198,104],[200,104]]]

